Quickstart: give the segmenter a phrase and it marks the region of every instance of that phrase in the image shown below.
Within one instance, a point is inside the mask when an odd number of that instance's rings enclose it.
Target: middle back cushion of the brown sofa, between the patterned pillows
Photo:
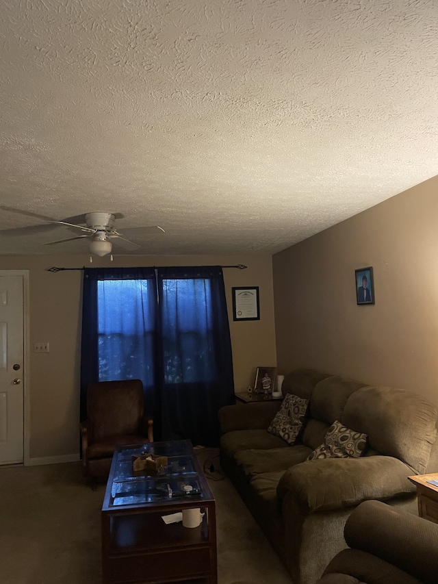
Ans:
[[[313,388],[309,405],[309,420],[302,432],[302,444],[315,450],[335,420],[341,420],[348,397],[365,383],[331,375]],[[355,427],[350,427],[357,430]]]

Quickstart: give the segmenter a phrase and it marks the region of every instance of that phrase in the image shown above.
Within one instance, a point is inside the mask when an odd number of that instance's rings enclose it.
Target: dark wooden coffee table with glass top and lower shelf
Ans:
[[[142,453],[167,457],[166,468],[133,472]],[[162,519],[198,507],[198,527]],[[101,524],[103,583],[217,584],[215,501],[189,440],[117,446]]]

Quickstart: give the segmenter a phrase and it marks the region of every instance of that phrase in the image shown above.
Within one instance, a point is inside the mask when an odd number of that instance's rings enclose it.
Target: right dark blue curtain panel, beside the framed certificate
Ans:
[[[157,275],[164,435],[216,446],[218,409],[234,403],[222,268],[158,268]]]

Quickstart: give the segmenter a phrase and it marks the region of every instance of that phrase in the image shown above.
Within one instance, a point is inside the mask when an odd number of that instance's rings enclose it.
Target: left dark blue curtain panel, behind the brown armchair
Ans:
[[[87,417],[88,384],[94,381],[141,379],[146,411],[159,407],[156,296],[154,268],[83,270],[81,421]]]

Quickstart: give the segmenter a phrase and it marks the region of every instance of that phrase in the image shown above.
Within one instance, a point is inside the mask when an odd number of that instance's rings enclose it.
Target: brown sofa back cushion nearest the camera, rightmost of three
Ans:
[[[419,395],[366,386],[350,395],[339,419],[368,434],[368,444],[377,453],[398,458],[419,474],[426,472],[437,435],[437,409]]]

